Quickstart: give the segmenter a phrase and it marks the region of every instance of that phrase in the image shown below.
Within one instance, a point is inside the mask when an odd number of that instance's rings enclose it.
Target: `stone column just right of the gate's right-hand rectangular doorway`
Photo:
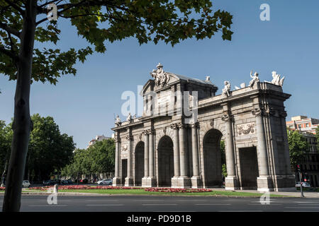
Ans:
[[[272,181],[269,176],[269,165],[267,155],[267,143],[264,131],[264,109],[256,107],[252,110],[252,114],[256,117],[256,132],[257,132],[257,156],[259,177],[257,177],[258,191],[271,191]]]

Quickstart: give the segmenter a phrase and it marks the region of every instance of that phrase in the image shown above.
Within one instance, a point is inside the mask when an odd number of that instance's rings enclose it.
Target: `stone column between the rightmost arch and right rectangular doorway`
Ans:
[[[232,117],[229,112],[224,112],[222,120],[225,121],[225,155],[226,155],[226,167],[227,177],[225,178],[225,189],[235,190],[238,189],[237,176],[235,169],[235,149],[234,149],[234,138],[233,138],[233,123]]]

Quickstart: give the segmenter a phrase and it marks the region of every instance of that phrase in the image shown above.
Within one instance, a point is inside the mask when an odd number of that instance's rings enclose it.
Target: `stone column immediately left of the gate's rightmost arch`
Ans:
[[[198,123],[191,124],[191,150],[193,157],[193,177],[191,177],[191,187],[194,189],[201,188],[201,177],[199,177],[198,161]]]

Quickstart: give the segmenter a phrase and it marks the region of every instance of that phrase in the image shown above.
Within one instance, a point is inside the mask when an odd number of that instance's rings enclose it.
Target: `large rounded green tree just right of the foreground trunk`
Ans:
[[[52,117],[34,114],[31,119],[33,131],[30,133],[26,172],[28,179],[35,174],[38,180],[42,180],[71,162],[75,143],[72,136],[61,134]]]

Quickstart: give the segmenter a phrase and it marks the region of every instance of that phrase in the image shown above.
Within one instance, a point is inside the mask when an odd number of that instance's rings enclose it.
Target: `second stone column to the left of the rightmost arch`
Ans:
[[[191,186],[191,181],[188,176],[188,167],[187,167],[187,148],[185,145],[185,125],[179,124],[179,160],[180,160],[180,170],[181,174],[179,177],[179,187],[180,188],[189,188]]]

